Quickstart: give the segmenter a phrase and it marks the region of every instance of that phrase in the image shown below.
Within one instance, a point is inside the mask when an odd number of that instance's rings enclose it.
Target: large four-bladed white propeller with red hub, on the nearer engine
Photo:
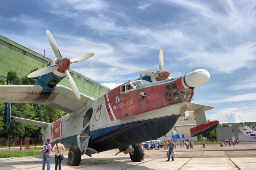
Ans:
[[[70,67],[70,64],[89,59],[90,57],[94,56],[94,53],[87,53],[87,54],[79,55],[72,59],[63,58],[61,55],[60,49],[57,46],[56,41],[54,40],[52,34],[50,33],[50,31],[48,29],[46,30],[46,34],[47,34],[48,40],[50,42],[50,45],[52,47],[52,50],[53,50],[57,60],[53,65],[45,67],[45,68],[41,68],[37,71],[34,71],[34,72],[30,73],[29,75],[27,75],[27,77],[28,78],[38,77],[38,76],[48,74],[55,70],[57,70],[59,72],[65,72],[65,74],[68,78],[68,82],[69,82],[75,96],[80,100],[81,96],[80,96],[79,90],[76,87],[76,84],[75,84],[74,80],[72,79],[68,69]]]

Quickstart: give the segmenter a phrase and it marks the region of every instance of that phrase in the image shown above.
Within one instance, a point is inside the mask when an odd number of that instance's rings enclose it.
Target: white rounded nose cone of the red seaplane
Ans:
[[[194,70],[184,76],[184,83],[188,87],[198,87],[210,80],[210,73],[204,69]]]

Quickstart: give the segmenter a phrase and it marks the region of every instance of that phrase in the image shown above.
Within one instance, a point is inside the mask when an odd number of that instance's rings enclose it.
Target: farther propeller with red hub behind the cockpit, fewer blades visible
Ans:
[[[145,74],[147,76],[154,77],[157,81],[166,80],[170,73],[168,71],[163,71],[163,50],[160,48],[159,52],[159,71],[149,71],[140,68],[135,68],[136,71]]]

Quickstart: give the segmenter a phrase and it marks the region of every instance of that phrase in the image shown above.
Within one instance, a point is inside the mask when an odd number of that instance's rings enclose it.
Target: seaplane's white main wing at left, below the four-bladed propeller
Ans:
[[[0,102],[47,104],[70,113],[94,100],[84,94],[78,100],[70,88],[62,85],[57,85],[52,93],[42,93],[42,89],[39,85],[0,85]]]

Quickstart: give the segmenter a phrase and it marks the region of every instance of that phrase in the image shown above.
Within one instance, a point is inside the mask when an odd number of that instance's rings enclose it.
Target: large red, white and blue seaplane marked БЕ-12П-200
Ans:
[[[143,152],[138,143],[165,135],[185,111],[195,111],[199,120],[202,115],[193,135],[218,126],[217,120],[206,123],[204,111],[213,107],[191,103],[194,89],[210,80],[208,71],[198,69],[156,82],[128,81],[93,99],[79,92],[69,70],[72,63],[88,59],[94,53],[63,58],[52,34],[48,30],[46,34],[56,59],[27,75],[30,78],[38,76],[34,85],[0,85],[0,102],[48,104],[67,112],[52,123],[11,116],[11,111],[7,112],[7,117],[8,121],[41,127],[44,142],[47,138],[52,141],[59,138],[65,146],[69,145],[69,165],[79,165],[84,154],[91,157],[117,148],[117,154],[129,154],[132,161],[139,162]],[[72,89],[58,85],[65,76]]]

